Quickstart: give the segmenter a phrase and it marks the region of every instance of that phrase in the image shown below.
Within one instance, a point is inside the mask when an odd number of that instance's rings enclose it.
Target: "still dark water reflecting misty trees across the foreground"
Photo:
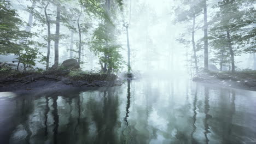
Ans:
[[[1,93],[0,143],[256,143],[256,92],[187,80]]]

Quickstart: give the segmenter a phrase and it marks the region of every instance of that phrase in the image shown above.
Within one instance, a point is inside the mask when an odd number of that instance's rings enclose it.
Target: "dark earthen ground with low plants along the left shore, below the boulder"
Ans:
[[[88,73],[81,70],[55,70],[42,73],[0,71],[0,92],[47,92],[61,89],[113,87],[123,85],[116,75]]]

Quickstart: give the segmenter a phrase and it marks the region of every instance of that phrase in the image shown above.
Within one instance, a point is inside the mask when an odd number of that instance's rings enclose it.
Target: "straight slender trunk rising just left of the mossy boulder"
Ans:
[[[60,5],[57,4],[57,17],[56,17],[56,32],[54,41],[54,65],[57,68],[59,66],[59,39],[60,39]]]

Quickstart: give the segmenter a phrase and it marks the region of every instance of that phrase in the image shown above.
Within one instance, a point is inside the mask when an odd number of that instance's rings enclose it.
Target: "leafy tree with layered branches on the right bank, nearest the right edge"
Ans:
[[[242,1],[223,0],[219,2],[216,7],[219,11],[216,13],[214,26],[211,28],[212,32],[218,33],[218,37],[222,37],[223,43],[228,46],[231,72],[235,72],[235,55],[241,53],[241,46],[245,46],[247,39],[243,38],[245,27],[251,25],[252,21],[243,19],[245,11],[240,8]],[[214,42],[214,41],[213,41]]]

